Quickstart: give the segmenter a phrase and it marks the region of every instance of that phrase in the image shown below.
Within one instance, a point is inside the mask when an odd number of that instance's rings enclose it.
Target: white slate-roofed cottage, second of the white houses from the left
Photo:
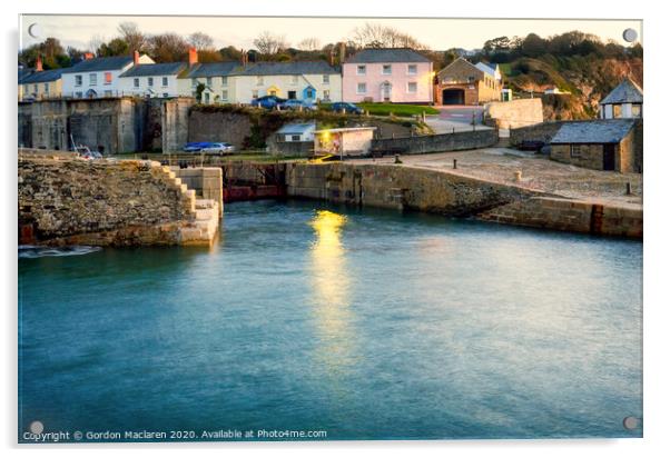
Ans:
[[[186,62],[140,63],[119,76],[121,93],[139,97],[177,97],[177,77],[186,70]]]

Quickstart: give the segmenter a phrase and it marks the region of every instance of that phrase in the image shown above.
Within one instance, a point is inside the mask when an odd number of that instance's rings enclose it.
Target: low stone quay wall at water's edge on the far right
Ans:
[[[569,199],[532,197],[484,211],[486,221],[603,236],[642,238],[641,209]]]

